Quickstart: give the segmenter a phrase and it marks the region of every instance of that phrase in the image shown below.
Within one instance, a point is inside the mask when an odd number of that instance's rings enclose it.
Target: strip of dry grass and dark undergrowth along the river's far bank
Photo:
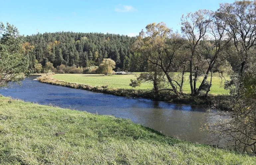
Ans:
[[[69,87],[74,89],[88,90],[92,92],[100,92],[106,94],[112,94],[116,96],[124,97],[142,97],[146,99],[155,99],[153,91],[139,90],[139,89],[121,89],[121,88],[109,88],[108,86],[93,86],[74,82],[67,82],[58,80],[53,77],[51,73],[42,74],[38,77],[39,82],[47,83],[52,85],[58,85],[63,87]],[[103,76],[102,76],[103,77]],[[176,95],[170,95],[169,91],[161,91],[158,101],[168,101],[173,103],[185,103],[198,106],[211,106],[212,108],[220,108],[222,110],[230,110],[226,102],[229,95],[208,95],[207,98],[204,96],[191,96],[184,94],[180,97]]]

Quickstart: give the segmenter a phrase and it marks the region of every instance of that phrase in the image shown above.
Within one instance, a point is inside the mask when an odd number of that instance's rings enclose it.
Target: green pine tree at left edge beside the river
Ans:
[[[27,74],[29,57],[22,49],[22,38],[18,29],[3,22],[0,23],[0,86],[10,81],[20,81]]]

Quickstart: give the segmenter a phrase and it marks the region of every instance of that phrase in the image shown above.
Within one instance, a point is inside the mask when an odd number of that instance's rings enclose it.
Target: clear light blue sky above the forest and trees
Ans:
[[[234,0],[1,0],[0,21],[18,27],[20,34],[73,31],[134,36],[148,23],[165,22],[180,30],[182,14],[216,10]]]

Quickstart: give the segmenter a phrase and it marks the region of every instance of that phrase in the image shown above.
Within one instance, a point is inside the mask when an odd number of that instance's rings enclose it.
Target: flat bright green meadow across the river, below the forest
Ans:
[[[72,83],[86,84],[92,86],[105,86],[107,85],[109,88],[122,88],[122,89],[132,89],[129,86],[130,79],[136,79],[136,75],[139,73],[135,73],[135,75],[98,75],[98,74],[56,74],[54,75],[55,79],[63,80]],[[199,81],[202,78],[199,79]],[[229,77],[226,77],[228,80]],[[190,93],[190,85],[189,85],[189,75],[188,73],[185,76],[186,82],[184,83],[183,91],[184,93]],[[212,87],[210,90],[210,94],[213,95],[223,95],[229,94],[229,91],[224,90],[224,79],[221,84],[221,79],[219,76],[214,75],[212,79]],[[198,82],[199,86],[200,83]],[[152,83],[142,83],[140,87],[136,87],[135,89],[149,90],[153,88]]]

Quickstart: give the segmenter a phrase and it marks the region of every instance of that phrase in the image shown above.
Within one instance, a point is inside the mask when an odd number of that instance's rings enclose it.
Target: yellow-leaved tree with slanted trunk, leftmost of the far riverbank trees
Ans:
[[[181,84],[173,78],[174,74],[170,71],[172,71],[173,59],[183,46],[183,39],[179,34],[172,33],[164,22],[148,24],[146,30],[147,35],[143,30],[141,31],[138,40],[134,43],[134,50],[143,55],[143,60],[160,67],[171,86],[170,90],[180,96],[178,88],[181,88]]]

